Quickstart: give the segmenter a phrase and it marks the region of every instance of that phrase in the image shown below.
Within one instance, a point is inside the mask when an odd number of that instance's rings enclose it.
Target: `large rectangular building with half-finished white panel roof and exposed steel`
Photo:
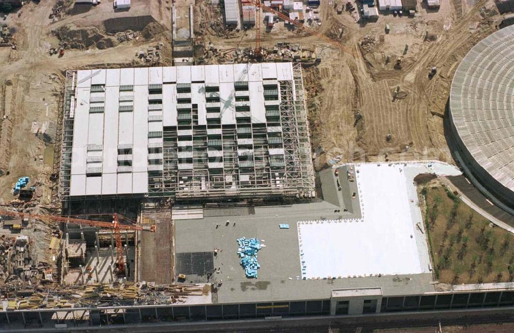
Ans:
[[[301,67],[69,71],[61,198],[314,196]]]

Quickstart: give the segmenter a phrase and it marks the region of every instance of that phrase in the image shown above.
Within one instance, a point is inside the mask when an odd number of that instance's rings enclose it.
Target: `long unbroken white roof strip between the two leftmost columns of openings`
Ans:
[[[107,73],[108,78],[108,73]],[[105,88],[105,128],[103,140],[103,172],[116,173],[118,167],[119,87]],[[116,191],[115,191],[116,192]]]

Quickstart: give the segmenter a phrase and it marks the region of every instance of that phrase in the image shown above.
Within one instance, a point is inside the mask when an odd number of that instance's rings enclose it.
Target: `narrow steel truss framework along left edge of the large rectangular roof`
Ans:
[[[66,199],[70,194],[71,153],[73,151],[73,127],[75,109],[75,87],[77,72],[66,71],[64,84],[64,108],[62,115],[61,166],[59,172],[59,198]]]

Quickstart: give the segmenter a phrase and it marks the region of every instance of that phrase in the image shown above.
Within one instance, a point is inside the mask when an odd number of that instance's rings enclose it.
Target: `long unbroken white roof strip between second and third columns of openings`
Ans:
[[[132,168],[134,172],[144,172],[148,164],[148,87],[135,86],[134,95],[134,148]]]

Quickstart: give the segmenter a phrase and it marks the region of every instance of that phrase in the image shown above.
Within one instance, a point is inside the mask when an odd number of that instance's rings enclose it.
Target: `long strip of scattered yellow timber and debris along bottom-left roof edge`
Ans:
[[[191,296],[206,296],[210,284],[155,285],[151,283],[59,286],[57,284],[15,289],[0,287],[0,301],[8,300],[8,310],[122,305],[185,303]],[[9,295],[9,297],[7,296]]]

